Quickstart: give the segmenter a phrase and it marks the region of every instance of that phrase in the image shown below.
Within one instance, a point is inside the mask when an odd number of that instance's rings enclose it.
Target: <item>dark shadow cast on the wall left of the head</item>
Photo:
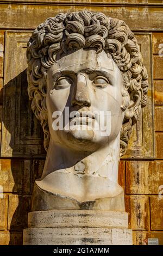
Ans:
[[[42,127],[30,107],[27,86],[27,72],[24,70],[0,92],[1,99],[3,95],[1,161],[3,173],[8,177],[4,192],[11,192],[8,203],[9,245],[22,244],[34,181],[41,176],[46,155]]]

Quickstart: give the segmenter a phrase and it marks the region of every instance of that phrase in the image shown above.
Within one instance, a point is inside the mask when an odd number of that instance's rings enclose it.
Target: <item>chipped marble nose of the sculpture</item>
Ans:
[[[82,73],[78,73],[77,75],[77,84],[74,90],[72,105],[85,105],[88,107],[91,106],[91,100],[89,98],[89,92],[87,90],[86,77]]]

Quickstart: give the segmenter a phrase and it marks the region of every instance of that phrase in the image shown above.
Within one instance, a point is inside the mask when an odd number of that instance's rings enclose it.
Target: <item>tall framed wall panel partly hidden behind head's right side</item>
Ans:
[[[140,46],[143,61],[146,65],[148,71],[148,97],[147,106],[142,109],[139,115],[139,119],[134,126],[129,140],[128,148],[126,154],[123,156],[125,158],[131,157],[154,157],[154,142],[153,136],[153,99],[152,99],[152,62],[149,60],[151,56],[151,35],[149,34],[136,34],[137,42]],[[148,46],[147,46],[148,45]]]

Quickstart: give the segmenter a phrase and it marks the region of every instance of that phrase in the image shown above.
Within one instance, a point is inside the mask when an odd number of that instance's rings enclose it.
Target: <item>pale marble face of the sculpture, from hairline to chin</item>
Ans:
[[[57,63],[47,71],[46,103],[51,139],[64,147],[90,151],[114,140],[124,117],[122,76],[114,60],[105,51],[83,49],[58,54],[56,59]],[[60,111],[59,118],[56,111]],[[77,117],[72,118],[72,111],[78,111]],[[57,120],[59,130],[55,127]]]

